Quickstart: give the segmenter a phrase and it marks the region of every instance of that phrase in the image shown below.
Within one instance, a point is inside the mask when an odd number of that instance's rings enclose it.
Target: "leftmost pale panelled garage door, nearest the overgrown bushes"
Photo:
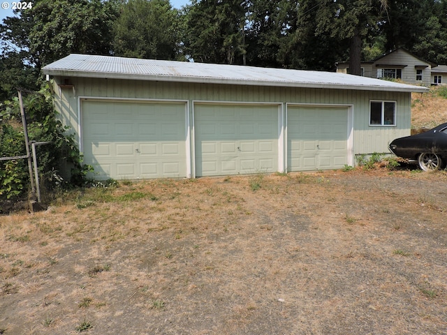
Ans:
[[[82,101],[84,162],[93,177],[186,177],[185,110],[185,103]]]

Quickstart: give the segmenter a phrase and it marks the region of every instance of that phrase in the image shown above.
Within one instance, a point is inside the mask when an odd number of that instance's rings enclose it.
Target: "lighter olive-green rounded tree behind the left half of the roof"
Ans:
[[[179,57],[179,13],[169,0],[129,0],[113,25],[114,54],[145,59]]]

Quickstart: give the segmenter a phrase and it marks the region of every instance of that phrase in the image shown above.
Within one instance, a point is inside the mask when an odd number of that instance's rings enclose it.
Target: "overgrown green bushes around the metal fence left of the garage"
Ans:
[[[38,174],[41,184],[51,190],[57,186],[81,186],[91,168],[82,164],[82,156],[73,136],[57,119],[48,84],[37,92],[24,94],[29,141],[49,142],[36,146]],[[26,156],[20,103],[17,97],[0,103],[0,157]],[[59,172],[61,161],[71,164],[71,180]],[[0,161],[0,202],[27,197],[30,185],[27,159]],[[6,207],[6,206],[4,206]],[[0,207],[0,214],[3,206]]]

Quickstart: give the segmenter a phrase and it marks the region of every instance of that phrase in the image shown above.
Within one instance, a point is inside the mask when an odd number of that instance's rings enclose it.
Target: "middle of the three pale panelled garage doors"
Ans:
[[[278,105],[194,105],[196,176],[278,170]]]

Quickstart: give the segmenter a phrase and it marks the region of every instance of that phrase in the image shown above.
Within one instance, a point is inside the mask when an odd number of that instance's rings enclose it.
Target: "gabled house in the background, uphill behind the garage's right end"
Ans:
[[[338,73],[349,73],[349,62],[341,61],[336,66]],[[374,61],[362,62],[360,66],[361,75],[365,77],[400,79],[408,84],[425,87],[441,83],[439,76],[442,74],[433,73],[434,68],[440,66],[420,59],[402,48],[376,58]]]

